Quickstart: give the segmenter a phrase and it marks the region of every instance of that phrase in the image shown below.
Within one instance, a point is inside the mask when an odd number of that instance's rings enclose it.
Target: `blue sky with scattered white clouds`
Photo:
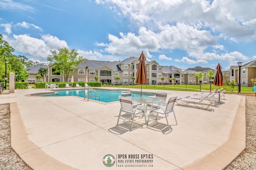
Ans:
[[[90,60],[146,58],[228,70],[256,59],[255,0],[0,0],[0,33],[32,61],[77,49]]]

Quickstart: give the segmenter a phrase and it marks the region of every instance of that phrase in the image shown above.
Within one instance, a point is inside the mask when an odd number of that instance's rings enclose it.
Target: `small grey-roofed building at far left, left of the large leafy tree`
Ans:
[[[44,64],[36,64],[34,66],[26,68],[28,70],[28,74],[29,74],[28,79],[26,80],[26,82],[36,83],[37,82],[36,74],[38,74],[38,70],[40,68],[47,68],[47,66],[44,65]],[[48,82],[48,77],[46,76],[46,77],[44,77],[44,79],[40,78],[38,81],[39,82]]]

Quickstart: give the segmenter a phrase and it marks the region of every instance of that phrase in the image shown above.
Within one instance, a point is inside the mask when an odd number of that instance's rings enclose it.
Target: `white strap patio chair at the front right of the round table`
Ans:
[[[150,111],[148,117],[150,117],[150,115],[154,114],[154,113],[156,113],[156,119],[158,119],[158,114],[164,115],[164,117],[166,118],[168,128],[170,130],[170,126],[169,126],[168,119],[167,119],[167,116],[168,116],[169,113],[173,112],[174,118],[175,118],[175,121],[176,121],[176,125],[177,125],[177,120],[176,120],[176,116],[175,116],[175,113],[174,113],[174,104],[175,104],[176,100],[177,100],[177,96],[170,98],[168,100],[165,108],[162,107],[162,106],[158,106],[157,109],[154,109],[154,110]]]

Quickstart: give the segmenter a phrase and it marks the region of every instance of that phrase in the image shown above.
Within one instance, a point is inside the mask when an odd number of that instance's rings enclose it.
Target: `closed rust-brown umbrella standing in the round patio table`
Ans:
[[[148,84],[148,76],[147,76],[147,69],[146,69],[146,57],[142,51],[140,58],[140,63],[138,64],[137,74],[135,83],[140,84],[140,96],[142,96],[142,85]]]

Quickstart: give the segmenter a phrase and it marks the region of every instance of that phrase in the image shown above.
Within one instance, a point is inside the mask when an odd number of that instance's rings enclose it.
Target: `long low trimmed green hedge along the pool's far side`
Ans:
[[[37,82],[36,88],[45,88],[45,84],[59,84],[59,88],[65,88],[66,84],[69,84],[72,87],[76,87],[76,83],[79,84],[79,86],[84,87],[85,82],[73,82],[73,86],[71,82]],[[91,87],[100,87],[101,82],[88,82],[88,86]]]

